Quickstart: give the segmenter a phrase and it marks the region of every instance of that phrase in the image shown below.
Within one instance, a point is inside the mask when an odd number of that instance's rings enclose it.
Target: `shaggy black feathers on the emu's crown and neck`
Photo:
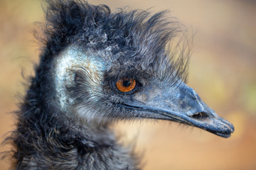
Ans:
[[[47,3],[45,47],[16,113],[17,129],[7,139],[15,147],[14,169],[139,169],[136,156],[117,143],[107,122],[93,129],[56,107],[52,62],[69,45],[94,51],[112,47],[109,60],[116,62],[105,72],[105,82],[139,75],[145,79],[154,75],[166,81],[185,80],[189,52],[181,47],[176,60],[176,50],[166,50],[169,41],[181,31],[178,23],[166,20],[168,11],[151,16],[148,11],[137,10],[111,13],[108,6],[85,1]],[[135,69],[142,72],[132,74]],[[75,75],[80,86],[86,84],[82,83],[83,73]],[[78,101],[86,95],[79,97],[80,90],[72,86],[68,89]]]

